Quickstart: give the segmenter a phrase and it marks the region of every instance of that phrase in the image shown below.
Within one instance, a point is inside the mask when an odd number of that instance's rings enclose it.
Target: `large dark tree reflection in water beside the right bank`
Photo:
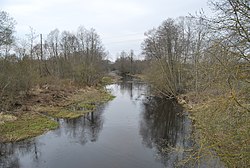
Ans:
[[[184,159],[184,148],[191,145],[187,138],[190,121],[183,114],[175,101],[150,98],[144,102],[140,122],[142,143],[154,148],[167,167],[174,167]]]

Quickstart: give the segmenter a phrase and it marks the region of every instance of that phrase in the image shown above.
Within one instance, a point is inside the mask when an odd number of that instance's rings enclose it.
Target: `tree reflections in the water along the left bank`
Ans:
[[[104,107],[102,105],[95,112],[87,113],[84,117],[78,119],[60,119],[58,120],[60,123],[59,129],[40,137],[17,143],[0,143],[0,168],[23,167],[19,158],[25,160],[26,156],[31,156],[30,161],[36,165],[35,167],[43,167],[44,161],[41,158],[46,152],[40,149],[44,148],[45,144],[39,140],[45,138],[48,141],[51,133],[53,136],[81,145],[88,141],[97,141],[103,127],[102,112]]]

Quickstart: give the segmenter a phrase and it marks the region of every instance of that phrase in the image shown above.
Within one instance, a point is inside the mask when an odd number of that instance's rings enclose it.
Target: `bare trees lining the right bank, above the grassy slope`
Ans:
[[[215,18],[201,13],[167,19],[145,33],[147,78],[162,94],[249,89],[249,2],[211,4]]]

